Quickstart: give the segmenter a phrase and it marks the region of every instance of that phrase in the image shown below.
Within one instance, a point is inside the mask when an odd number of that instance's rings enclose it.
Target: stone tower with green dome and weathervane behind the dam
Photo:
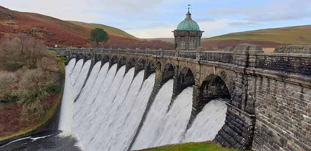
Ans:
[[[175,48],[180,47],[181,50],[195,50],[201,46],[201,37],[204,31],[201,31],[199,25],[192,20],[189,7],[185,20],[180,22],[177,29],[172,32],[174,32],[175,37]]]

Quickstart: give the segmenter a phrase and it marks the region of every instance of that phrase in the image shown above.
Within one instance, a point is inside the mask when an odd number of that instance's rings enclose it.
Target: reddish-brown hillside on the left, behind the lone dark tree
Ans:
[[[36,13],[12,11],[0,6],[0,38],[18,32],[25,32],[33,37],[42,39],[46,45],[67,45],[84,47],[89,41],[91,28],[79,26],[54,17]],[[121,30],[118,30],[121,32]],[[137,39],[133,36],[119,35],[118,32],[109,34],[110,41],[127,41]],[[124,32],[124,31],[123,31]]]

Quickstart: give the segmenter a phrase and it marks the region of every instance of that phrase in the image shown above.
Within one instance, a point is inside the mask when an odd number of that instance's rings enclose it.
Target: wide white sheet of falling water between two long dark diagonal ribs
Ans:
[[[134,68],[124,76],[125,66],[116,73],[115,64],[106,72],[106,64],[97,78],[88,78],[74,105],[72,127],[86,151],[125,151],[154,85],[155,74],[142,85],[143,71],[133,80]]]

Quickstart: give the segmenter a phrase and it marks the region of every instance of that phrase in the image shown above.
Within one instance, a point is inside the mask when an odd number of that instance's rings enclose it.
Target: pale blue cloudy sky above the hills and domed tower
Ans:
[[[311,0],[1,0],[19,12],[98,23],[138,38],[173,38],[190,6],[208,38],[232,32],[311,25]]]

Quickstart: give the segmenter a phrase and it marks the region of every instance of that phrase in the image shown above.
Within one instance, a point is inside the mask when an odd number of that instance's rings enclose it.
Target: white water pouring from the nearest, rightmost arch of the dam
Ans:
[[[214,99],[203,107],[187,131],[183,142],[213,140],[225,124],[227,106],[223,99]]]

